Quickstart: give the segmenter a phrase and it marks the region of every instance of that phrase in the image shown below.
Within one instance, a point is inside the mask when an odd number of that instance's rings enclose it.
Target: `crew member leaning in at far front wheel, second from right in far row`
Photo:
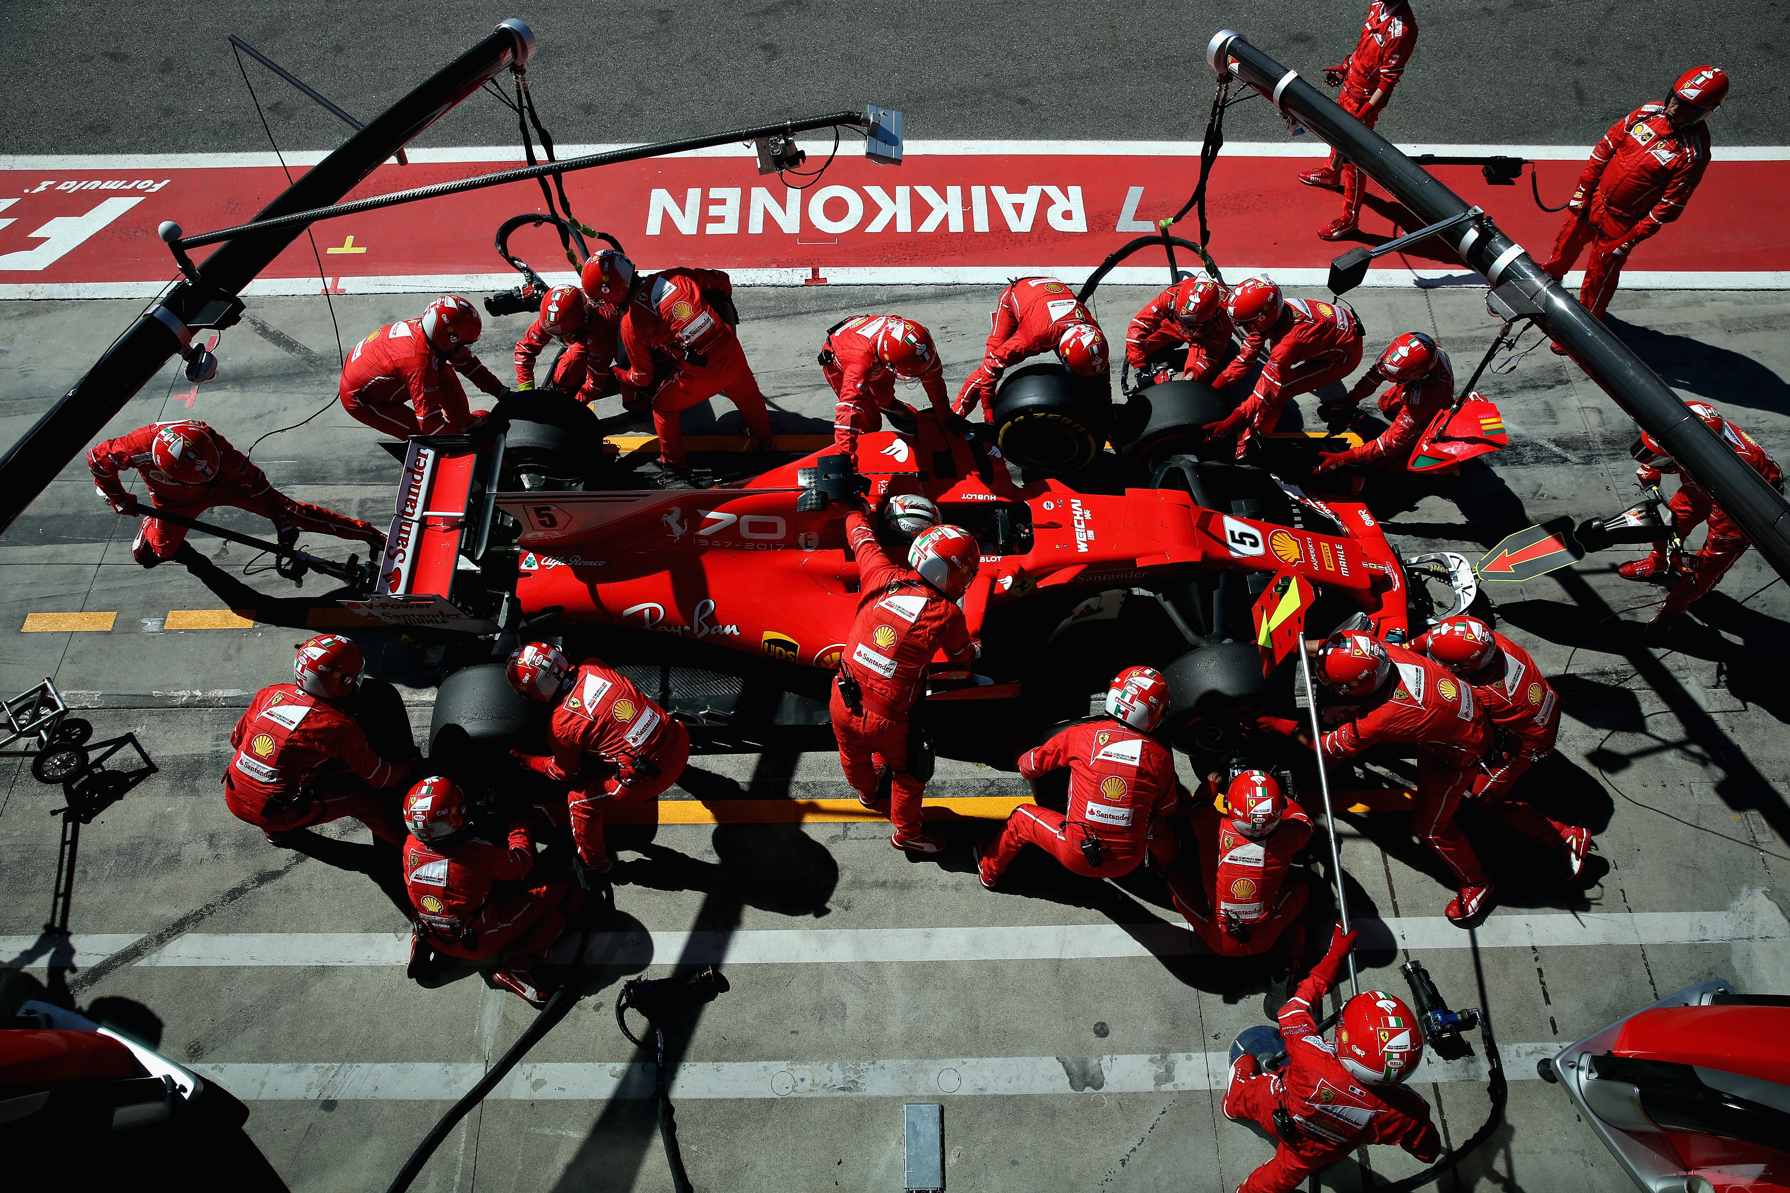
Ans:
[[[1237,404],[1228,419],[1206,426],[1221,440],[1237,440],[1237,460],[1244,460],[1258,435],[1280,422],[1280,408],[1296,393],[1341,381],[1360,363],[1362,326],[1351,309],[1317,299],[1285,299],[1267,277],[1248,277],[1230,292],[1224,311],[1244,333],[1242,351],[1214,381],[1226,390],[1267,347],[1267,363],[1255,392]]]

